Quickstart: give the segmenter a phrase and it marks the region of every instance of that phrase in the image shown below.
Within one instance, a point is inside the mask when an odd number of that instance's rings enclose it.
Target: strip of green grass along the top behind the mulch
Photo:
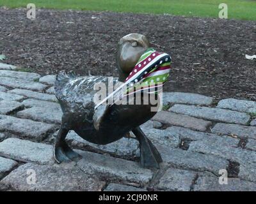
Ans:
[[[228,18],[256,20],[254,0],[0,0],[0,6],[26,7],[35,3],[36,8],[60,10],[95,10],[132,13],[153,13],[218,18],[220,3],[228,5]]]

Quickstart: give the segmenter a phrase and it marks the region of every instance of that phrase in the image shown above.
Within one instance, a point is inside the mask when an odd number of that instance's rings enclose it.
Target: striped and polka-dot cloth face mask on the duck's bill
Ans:
[[[157,94],[159,90],[163,89],[164,83],[168,80],[171,60],[170,55],[148,48],[141,55],[136,66],[125,79],[124,84],[100,101],[95,109],[108,101],[109,98],[118,101],[124,96],[142,91]]]

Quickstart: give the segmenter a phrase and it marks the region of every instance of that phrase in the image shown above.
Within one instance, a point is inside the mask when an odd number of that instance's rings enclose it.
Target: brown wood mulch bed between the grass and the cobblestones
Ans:
[[[256,22],[94,11],[0,8],[0,54],[4,62],[42,75],[74,69],[81,75],[117,75],[118,40],[129,33],[148,36],[172,55],[166,91],[215,98],[256,100]]]

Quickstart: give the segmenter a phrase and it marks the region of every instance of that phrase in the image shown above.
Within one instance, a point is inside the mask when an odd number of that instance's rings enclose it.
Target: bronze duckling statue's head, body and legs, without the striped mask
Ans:
[[[119,78],[113,80],[114,84],[125,82],[128,78],[132,79],[132,69],[141,66],[138,65],[138,61],[148,48],[150,43],[142,34],[132,33],[121,38],[117,54]],[[166,58],[166,61],[170,62],[170,59]],[[56,76],[54,89],[63,117],[54,143],[54,159],[61,163],[80,157],[65,142],[70,130],[74,130],[84,140],[99,145],[115,142],[132,131],[140,143],[141,165],[144,168],[159,168],[159,163],[162,162],[161,155],[140,128],[141,124],[156,114],[150,109],[154,105],[150,103],[116,105],[114,103],[102,105],[103,108],[99,106],[97,111],[93,102],[97,91],[93,87],[99,82],[108,87],[108,77],[77,77],[74,72],[66,73],[65,71],[61,71]]]

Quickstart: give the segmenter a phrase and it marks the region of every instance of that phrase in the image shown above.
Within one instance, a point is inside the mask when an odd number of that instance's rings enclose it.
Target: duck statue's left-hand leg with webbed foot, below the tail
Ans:
[[[54,143],[53,155],[54,159],[58,162],[67,162],[67,161],[77,161],[81,156],[74,152],[70,147],[68,147],[65,142],[65,138],[68,134],[68,129],[61,126],[58,135],[56,137],[56,142]]]

